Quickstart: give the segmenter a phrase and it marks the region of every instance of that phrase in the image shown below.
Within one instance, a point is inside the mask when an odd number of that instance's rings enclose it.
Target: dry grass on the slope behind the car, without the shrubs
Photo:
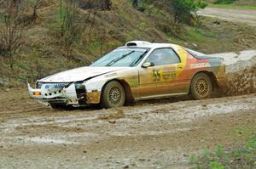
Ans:
[[[254,27],[207,18],[201,18],[201,25],[196,26],[175,24],[172,14],[154,5],[149,5],[146,12],[141,13],[131,7],[131,1],[116,0],[113,1],[116,10],[98,11],[94,24],[91,24],[92,15],[89,21],[81,22],[84,32],[76,39],[73,59],[68,61],[60,40],[61,20],[57,2],[41,7],[38,20],[24,31],[25,46],[15,64],[18,77],[10,78],[13,73],[0,57],[0,80],[22,81],[23,84],[26,79],[34,81],[61,70],[89,65],[101,54],[131,40],[172,42],[206,54],[256,48]],[[87,19],[89,14],[81,10],[80,17]]]

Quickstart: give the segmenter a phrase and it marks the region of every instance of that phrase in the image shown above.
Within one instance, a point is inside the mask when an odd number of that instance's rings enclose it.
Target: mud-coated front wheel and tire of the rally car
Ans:
[[[121,107],[125,104],[125,89],[117,81],[106,84],[102,91],[101,104],[103,108]]]

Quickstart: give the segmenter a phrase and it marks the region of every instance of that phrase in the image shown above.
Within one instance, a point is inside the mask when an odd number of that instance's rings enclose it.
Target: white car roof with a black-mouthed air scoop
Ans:
[[[156,43],[146,41],[130,41],[125,43],[125,47],[137,48],[177,48],[178,45],[172,43]]]

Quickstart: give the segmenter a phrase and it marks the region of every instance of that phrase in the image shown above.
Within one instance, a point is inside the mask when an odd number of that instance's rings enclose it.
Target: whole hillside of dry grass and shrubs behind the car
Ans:
[[[131,40],[212,54],[256,48],[255,27],[196,16],[202,0],[0,0],[0,87],[90,65]]]

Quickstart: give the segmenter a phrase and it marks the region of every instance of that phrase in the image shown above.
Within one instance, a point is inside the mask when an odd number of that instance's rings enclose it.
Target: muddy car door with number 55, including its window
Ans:
[[[182,92],[177,87],[177,71],[183,67],[172,48],[155,49],[144,63],[151,63],[152,66],[138,69],[142,99]]]

